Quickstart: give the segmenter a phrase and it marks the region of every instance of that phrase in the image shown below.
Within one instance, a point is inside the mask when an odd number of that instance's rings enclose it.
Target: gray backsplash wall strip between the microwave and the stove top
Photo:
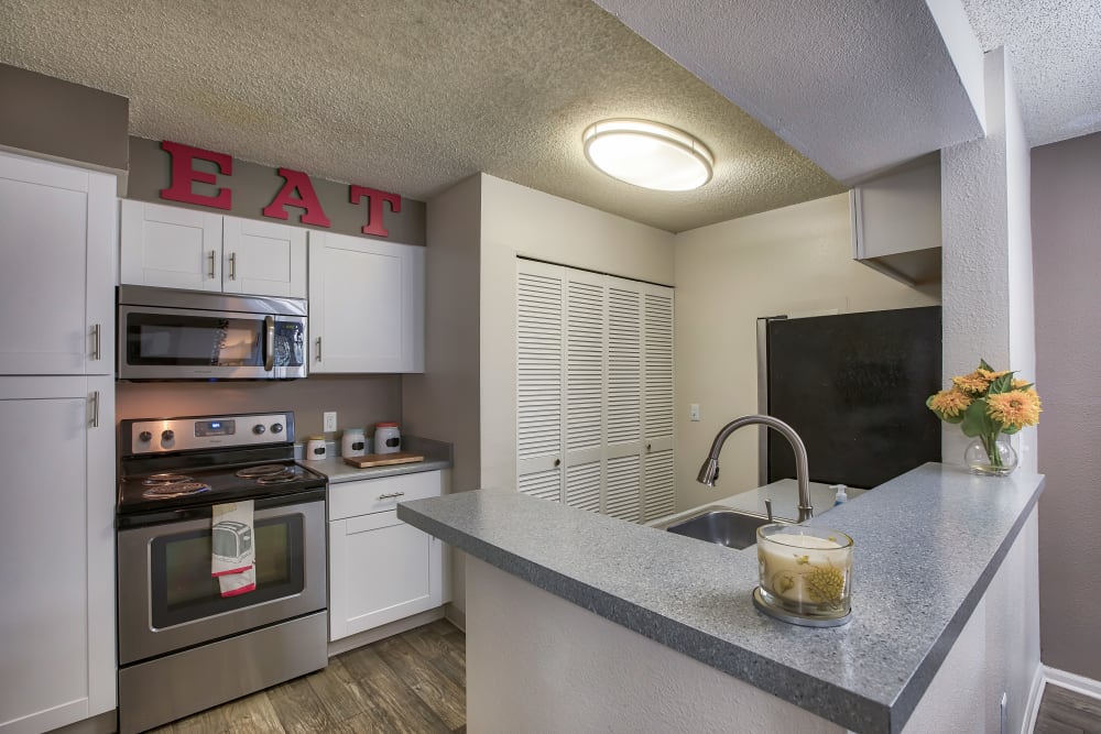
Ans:
[[[305,380],[229,382],[118,382],[115,410],[122,418],[293,410],[295,438],[320,434],[321,414],[337,412],[337,432],[402,419],[401,375],[316,375]]]

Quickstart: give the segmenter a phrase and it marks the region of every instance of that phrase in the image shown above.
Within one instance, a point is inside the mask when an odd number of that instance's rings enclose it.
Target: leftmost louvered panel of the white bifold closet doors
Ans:
[[[560,502],[565,271],[516,263],[516,489]]]

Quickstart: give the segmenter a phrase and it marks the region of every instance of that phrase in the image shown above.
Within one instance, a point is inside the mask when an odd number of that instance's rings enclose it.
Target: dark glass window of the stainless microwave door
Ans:
[[[263,365],[263,320],[132,313],[126,321],[131,365]]]

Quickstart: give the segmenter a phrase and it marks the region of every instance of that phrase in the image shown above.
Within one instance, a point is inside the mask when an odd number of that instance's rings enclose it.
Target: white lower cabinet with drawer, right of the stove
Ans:
[[[399,501],[443,494],[439,471],[329,485],[329,639],[443,603],[443,545],[397,519]]]

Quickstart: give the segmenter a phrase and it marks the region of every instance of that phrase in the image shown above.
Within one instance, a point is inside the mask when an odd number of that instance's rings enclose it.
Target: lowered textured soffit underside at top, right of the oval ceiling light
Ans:
[[[596,1],[843,183],[983,134],[924,0]]]

